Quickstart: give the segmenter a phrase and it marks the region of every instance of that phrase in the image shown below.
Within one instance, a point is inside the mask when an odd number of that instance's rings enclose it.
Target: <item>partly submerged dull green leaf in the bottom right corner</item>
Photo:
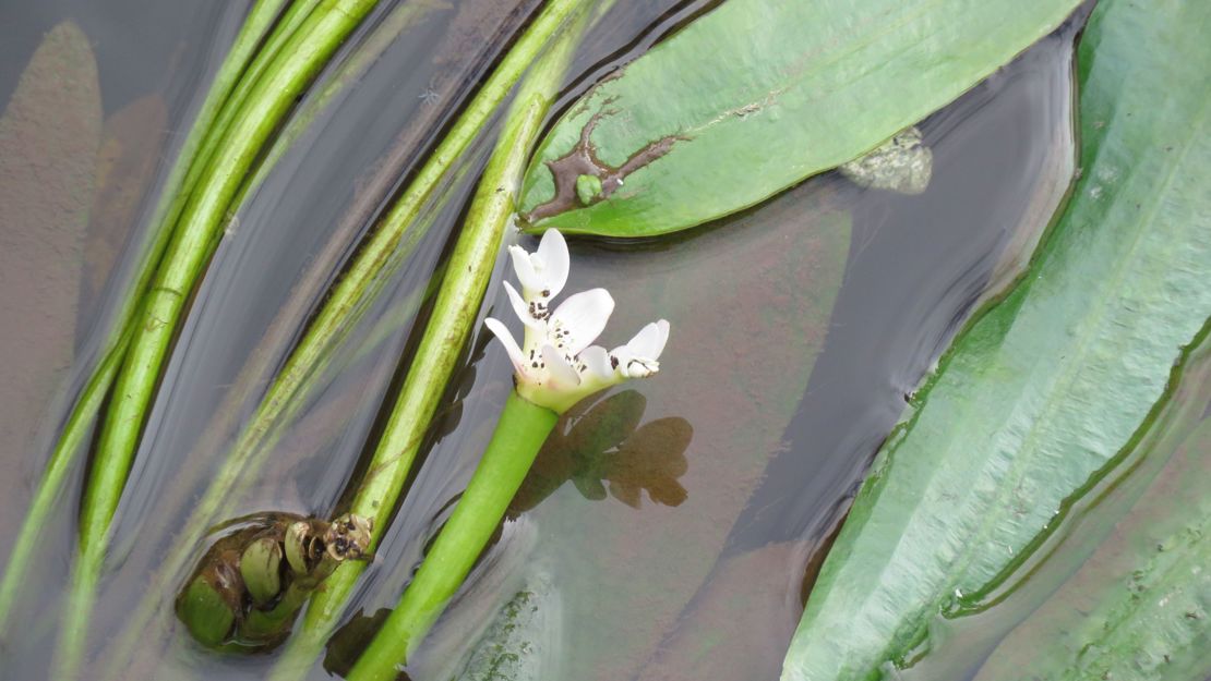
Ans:
[[[1113,533],[1062,588],[1049,594],[988,658],[978,681],[1016,679],[1155,679],[1211,676],[1211,344],[1196,371],[1182,377],[1194,400],[1175,397],[1184,417],[1153,427],[1144,464],[1131,472],[1147,486]],[[1186,386],[1193,379],[1200,385]],[[1166,410],[1170,410],[1166,406]],[[1144,467],[1141,467],[1144,468]],[[1135,480],[1129,480],[1132,483]],[[1150,481],[1150,486],[1147,483]],[[1092,509],[1102,520],[1121,514],[1117,485]],[[1130,504],[1126,504],[1130,506]],[[1061,549],[1061,560],[1068,555]]]

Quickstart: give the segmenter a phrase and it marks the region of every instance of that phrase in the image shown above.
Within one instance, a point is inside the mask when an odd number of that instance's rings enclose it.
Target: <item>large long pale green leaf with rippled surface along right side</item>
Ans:
[[[1211,5],[1098,5],[1083,178],[1023,282],[941,362],[876,460],[784,679],[874,679],[928,651],[1127,448],[1211,314]]]

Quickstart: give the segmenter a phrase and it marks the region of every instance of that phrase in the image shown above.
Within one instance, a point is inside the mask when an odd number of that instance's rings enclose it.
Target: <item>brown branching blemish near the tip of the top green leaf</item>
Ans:
[[[593,145],[591,137],[593,128],[597,127],[597,121],[602,116],[615,112],[607,109],[593,114],[585,123],[585,127],[580,129],[580,140],[572,148],[572,151],[553,161],[546,161],[546,167],[551,169],[551,175],[555,178],[555,197],[546,203],[535,206],[533,210],[523,215],[522,218],[526,221],[536,223],[559,213],[581,208],[582,204],[576,196],[576,178],[580,175],[591,175],[602,183],[601,195],[593,197],[590,206],[609,198],[612,194],[624,185],[631,173],[668,154],[677,142],[688,139],[683,135],[671,134],[649,142],[638,151],[631,154],[621,166],[614,168],[597,156],[597,148]]]

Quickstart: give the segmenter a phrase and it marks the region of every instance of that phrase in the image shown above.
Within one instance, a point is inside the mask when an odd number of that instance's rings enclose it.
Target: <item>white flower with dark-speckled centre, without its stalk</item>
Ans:
[[[578,293],[550,310],[551,299],[568,281],[568,244],[558,230],[547,230],[535,253],[517,246],[509,252],[522,290],[517,293],[509,282],[505,290],[526,324],[524,342],[518,346],[499,319],[489,317],[487,324],[513,363],[518,394],[562,414],[597,391],[660,370],[658,359],[668,340],[665,319],[645,325],[626,345],[607,352],[590,344],[614,311],[609,292],[596,288]]]

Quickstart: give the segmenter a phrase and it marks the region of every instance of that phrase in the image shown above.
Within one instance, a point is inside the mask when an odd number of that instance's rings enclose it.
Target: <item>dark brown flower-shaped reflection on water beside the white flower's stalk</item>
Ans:
[[[608,489],[639,508],[647,491],[653,503],[681,506],[688,492],[678,479],[689,471],[685,449],[694,429],[679,416],[641,427],[647,405],[643,394],[629,389],[569,409],[539,451],[510,515],[534,508],[568,480],[586,500],[604,500]]]

